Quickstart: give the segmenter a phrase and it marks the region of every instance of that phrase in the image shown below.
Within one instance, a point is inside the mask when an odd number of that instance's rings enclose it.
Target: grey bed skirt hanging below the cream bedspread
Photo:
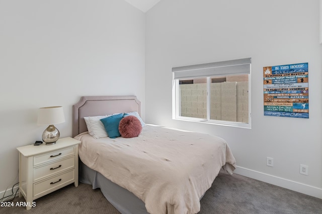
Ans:
[[[93,189],[100,188],[106,199],[122,214],[148,213],[141,199],[89,168],[81,160],[79,160],[79,182],[91,184]]]

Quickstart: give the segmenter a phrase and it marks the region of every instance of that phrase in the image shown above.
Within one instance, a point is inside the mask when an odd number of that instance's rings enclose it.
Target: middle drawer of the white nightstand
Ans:
[[[34,181],[44,179],[45,177],[53,176],[64,170],[75,167],[75,156],[67,159],[59,160],[48,165],[44,165],[34,169]]]

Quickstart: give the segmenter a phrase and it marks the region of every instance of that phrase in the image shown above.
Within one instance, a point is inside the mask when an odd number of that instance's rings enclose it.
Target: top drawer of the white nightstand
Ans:
[[[73,154],[75,154],[75,147],[70,147],[62,150],[57,150],[54,152],[49,152],[43,155],[38,155],[34,157],[34,166],[37,166],[39,164],[43,164],[46,162],[54,161]]]

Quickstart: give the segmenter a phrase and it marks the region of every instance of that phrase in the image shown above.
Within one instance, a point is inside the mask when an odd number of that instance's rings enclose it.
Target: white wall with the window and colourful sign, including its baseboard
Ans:
[[[146,14],[146,122],[218,135],[236,173],[322,198],[319,1],[163,0]],[[172,67],[252,57],[252,129],[172,120]],[[309,119],[263,116],[263,67],[308,62]],[[274,158],[274,167],[266,166]],[[309,166],[309,175],[299,165]]]

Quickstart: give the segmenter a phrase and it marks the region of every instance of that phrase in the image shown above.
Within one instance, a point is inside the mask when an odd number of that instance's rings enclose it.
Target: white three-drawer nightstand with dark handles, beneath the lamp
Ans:
[[[78,186],[78,144],[73,138],[60,138],[54,145],[18,147],[19,196],[27,209],[33,200],[70,183]]]

